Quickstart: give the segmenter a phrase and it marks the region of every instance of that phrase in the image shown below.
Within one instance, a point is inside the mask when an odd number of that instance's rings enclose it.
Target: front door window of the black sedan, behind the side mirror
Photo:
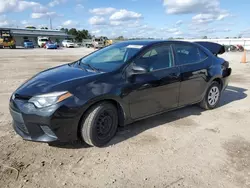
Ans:
[[[150,48],[135,61],[135,64],[146,68],[149,72],[172,67],[173,56],[170,44]]]

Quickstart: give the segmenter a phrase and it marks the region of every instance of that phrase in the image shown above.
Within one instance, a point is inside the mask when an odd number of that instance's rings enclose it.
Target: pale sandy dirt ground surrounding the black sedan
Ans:
[[[103,148],[23,141],[11,127],[11,93],[90,51],[0,50],[1,188],[250,187],[250,63],[239,63],[242,53],[223,56],[233,75],[215,110],[191,106],[134,123]]]

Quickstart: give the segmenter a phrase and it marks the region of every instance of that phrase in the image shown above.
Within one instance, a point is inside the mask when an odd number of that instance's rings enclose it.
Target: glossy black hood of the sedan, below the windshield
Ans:
[[[69,90],[79,80],[97,74],[101,73],[85,71],[71,65],[62,65],[38,73],[21,85],[15,93],[20,96],[32,97],[48,92]]]

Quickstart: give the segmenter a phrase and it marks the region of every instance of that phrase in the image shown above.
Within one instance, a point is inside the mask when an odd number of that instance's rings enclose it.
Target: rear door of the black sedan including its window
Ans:
[[[207,87],[211,58],[192,43],[176,43],[174,52],[181,73],[179,106],[199,102]]]

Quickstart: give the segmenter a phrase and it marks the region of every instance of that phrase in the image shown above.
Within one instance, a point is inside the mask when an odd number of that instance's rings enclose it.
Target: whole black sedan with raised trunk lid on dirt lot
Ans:
[[[228,85],[223,46],[127,41],[45,70],[11,96],[15,131],[25,140],[84,140],[103,146],[118,126],[191,104],[213,109]]]

